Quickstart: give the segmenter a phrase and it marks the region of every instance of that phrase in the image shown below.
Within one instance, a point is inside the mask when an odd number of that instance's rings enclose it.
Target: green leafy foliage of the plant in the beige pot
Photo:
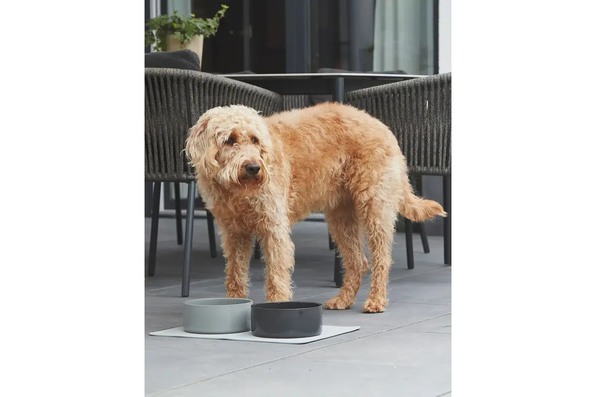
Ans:
[[[221,5],[213,18],[195,18],[194,14],[180,15],[174,11],[172,15],[159,15],[151,18],[145,26],[149,30],[143,32],[145,47],[154,44],[156,51],[167,51],[167,36],[174,36],[181,44],[190,42],[194,36],[209,37],[218,31],[219,20],[224,17],[228,6]]]

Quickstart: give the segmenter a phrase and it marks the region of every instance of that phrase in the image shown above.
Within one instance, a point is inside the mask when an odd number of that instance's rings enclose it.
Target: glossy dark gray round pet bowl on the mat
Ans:
[[[267,302],[250,307],[254,336],[309,337],[323,332],[322,305],[315,302]]]

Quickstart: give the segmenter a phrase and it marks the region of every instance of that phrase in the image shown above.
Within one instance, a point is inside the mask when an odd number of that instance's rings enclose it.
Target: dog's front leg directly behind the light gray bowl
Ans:
[[[225,231],[222,245],[225,267],[225,287],[228,298],[246,298],[249,286],[249,265],[252,254],[252,236]]]

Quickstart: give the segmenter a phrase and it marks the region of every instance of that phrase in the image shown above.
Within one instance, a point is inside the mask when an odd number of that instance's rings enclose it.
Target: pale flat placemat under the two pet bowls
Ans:
[[[224,339],[224,340],[243,340],[244,342],[266,342],[266,343],[287,343],[290,345],[301,345],[303,343],[315,342],[315,340],[327,339],[344,333],[359,330],[360,327],[339,327],[339,326],[323,326],[323,332],[318,336],[311,337],[294,337],[288,339],[277,339],[272,337],[258,337],[253,336],[250,331],[239,333],[223,333],[223,334],[201,334],[184,332],[183,327],[170,328],[167,330],[150,332],[153,336],[170,336],[170,337],[194,337],[195,339]]]

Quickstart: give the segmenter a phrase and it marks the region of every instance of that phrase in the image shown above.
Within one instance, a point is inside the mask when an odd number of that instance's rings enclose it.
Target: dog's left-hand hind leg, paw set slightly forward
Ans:
[[[352,306],[356,293],[360,289],[362,277],[368,271],[367,257],[364,255],[361,227],[356,218],[356,211],[350,200],[326,214],[328,227],[333,240],[337,243],[343,257],[346,271],[339,295],[331,298],[325,308],[344,310]]]

